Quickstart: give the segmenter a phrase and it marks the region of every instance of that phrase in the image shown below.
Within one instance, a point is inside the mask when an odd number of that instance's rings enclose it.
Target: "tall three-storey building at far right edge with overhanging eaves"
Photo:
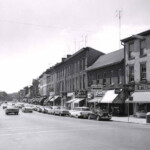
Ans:
[[[130,114],[150,111],[150,30],[121,40],[125,51],[125,84]]]

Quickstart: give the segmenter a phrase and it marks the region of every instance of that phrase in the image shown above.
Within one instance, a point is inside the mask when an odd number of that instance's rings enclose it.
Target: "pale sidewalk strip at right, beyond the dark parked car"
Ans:
[[[128,120],[128,117],[116,117],[116,116],[113,116],[112,121],[117,121],[117,122],[129,122],[129,123],[138,123],[138,124],[149,124],[150,123],[146,123],[146,118],[135,118],[133,116],[130,116],[129,117],[129,120]]]

